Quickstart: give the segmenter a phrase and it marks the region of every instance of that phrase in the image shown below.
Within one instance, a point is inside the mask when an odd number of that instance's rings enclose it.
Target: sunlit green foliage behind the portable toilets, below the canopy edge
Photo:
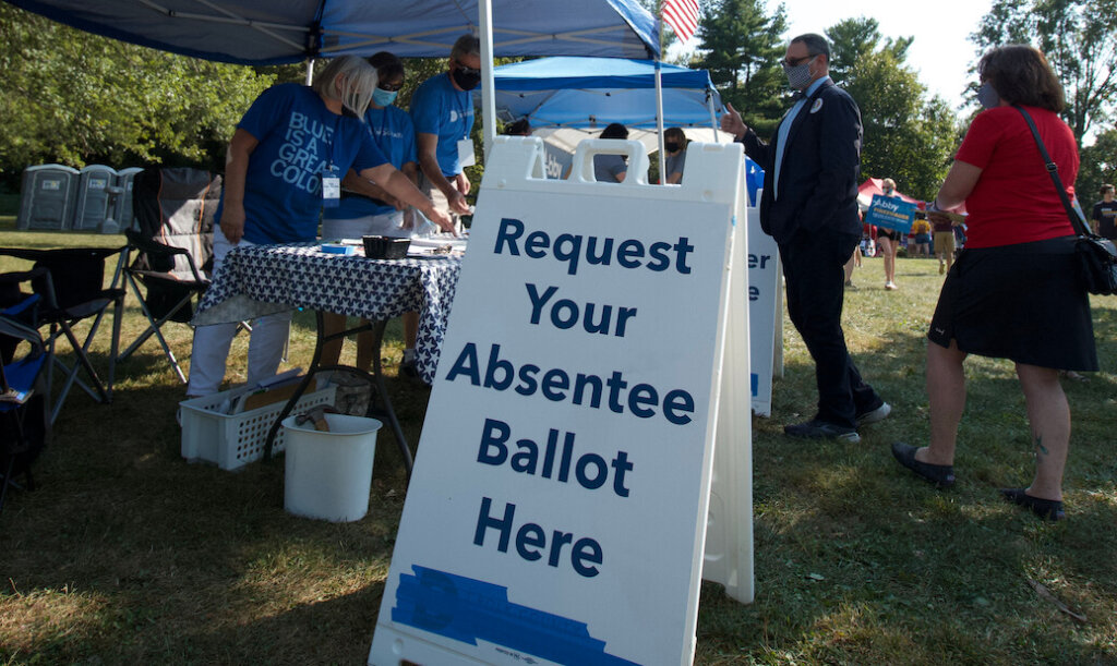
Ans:
[[[3,3],[0,176],[30,164],[220,166],[237,120],[275,74],[80,32]]]

